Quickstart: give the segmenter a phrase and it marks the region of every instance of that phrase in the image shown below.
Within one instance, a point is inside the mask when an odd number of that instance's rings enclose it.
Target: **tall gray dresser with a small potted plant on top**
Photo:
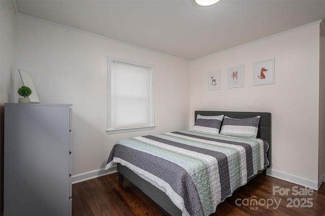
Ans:
[[[5,216],[72,215],[71,106],[5,103]]]

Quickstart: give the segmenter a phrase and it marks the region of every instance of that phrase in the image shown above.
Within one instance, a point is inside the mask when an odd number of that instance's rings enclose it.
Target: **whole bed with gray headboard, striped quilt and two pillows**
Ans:
[[[226,197],[271,166],[271,114],[194,115],[193,130],[119,140],[106,169],[117,163],[120,181],[126,177],[171,215],[215,212]]]

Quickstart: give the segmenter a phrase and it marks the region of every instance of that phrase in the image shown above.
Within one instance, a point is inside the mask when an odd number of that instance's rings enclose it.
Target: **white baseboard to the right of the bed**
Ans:
[[[283,181],[287,181],[287,182],[291,182],[297,185],[301,185],[303,187],[307,187],[313,190],[318,190],[318,182],[315,181],[311,181],[310,179],[307,178],[303,178],[297,175],[292,175],[289,173],[285,173],[285,172],[281,172],[278,170],[274,170],[274,169],[268,169],[267,170],[267,175],[275,177],[275,178],[279,178],[282,179]],[[321,178],[320,178],[321,179]],[[319,185],[320,186],[320,185]]]

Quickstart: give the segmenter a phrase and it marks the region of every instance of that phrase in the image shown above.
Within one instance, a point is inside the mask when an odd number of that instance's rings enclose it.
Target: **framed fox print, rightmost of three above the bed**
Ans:
[[[274,84],[274,59],[253,64],[253,85]]]

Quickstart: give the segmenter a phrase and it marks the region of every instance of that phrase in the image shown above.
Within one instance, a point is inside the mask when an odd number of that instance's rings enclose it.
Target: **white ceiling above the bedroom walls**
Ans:
[[[186,60],[325,19],[325,0],[13,0],[34,16]]]

